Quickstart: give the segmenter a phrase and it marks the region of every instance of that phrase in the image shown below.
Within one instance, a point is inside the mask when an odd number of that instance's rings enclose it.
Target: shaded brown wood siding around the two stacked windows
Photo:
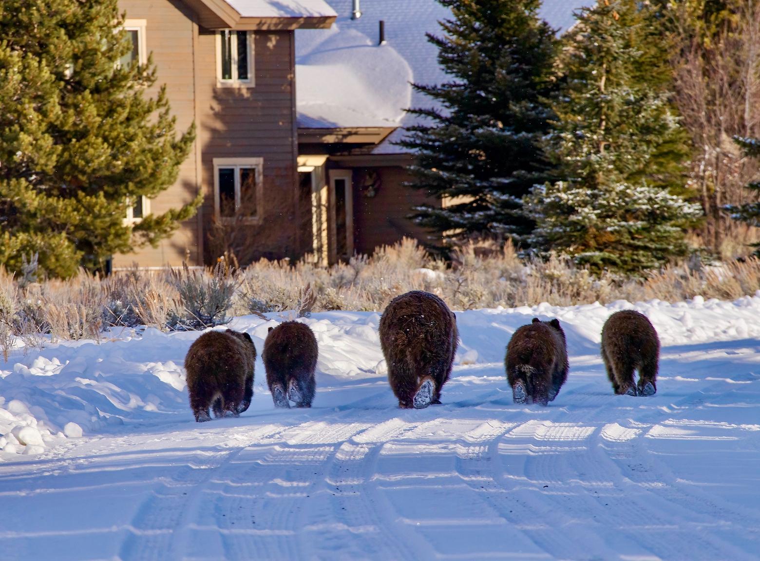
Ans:
[[[217,87],[216,36],[198,37],[201,76],[198,81],[203,186],[207,197],[203,216],[206,231],[214,216],[214,158],[264,158],[264,200],[261,223],[245,229],[244,261],[261,256],[299,256],[295,118],[293,113],[293,32],[254,34],[255,87]],[[206,260],[213,262],[218,255]]]

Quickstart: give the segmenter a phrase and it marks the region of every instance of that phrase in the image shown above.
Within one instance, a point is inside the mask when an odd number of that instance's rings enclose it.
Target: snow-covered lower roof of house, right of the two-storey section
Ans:
[[[252,2],[253,0],[237,0]],[[259,0],[261,1],[261,0]],[[410,82],[439,84],[446,75],[438,49],[426,33],[441,33],[439,21],[451,16],[435,0],[362,0],[362,16],[351,19],[351,0],[327,0],[337,12],[330,29],[296,30],[298,125],[305,128],[404,127],[416,117],[409,107],[432,100]],[[573,10],[595,0],[544,0],[540,15],[559,32],[574,22]],[[385,44],[378,45],[379,21]],[[391,144],[395,131],[375,153],[403,151]]]

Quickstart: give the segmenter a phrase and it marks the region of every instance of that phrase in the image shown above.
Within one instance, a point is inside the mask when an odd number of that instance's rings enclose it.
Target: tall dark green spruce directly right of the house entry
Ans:
[[[452,17],[428,34],[444,84],[415,84],[438,102],[410,109],[423,124],[400,144],[416,151],[410,186],[451,204],[415,208],[413,219],[451,237],[524,234],[522,197],[549,178],[540,138],[552,114],[555,31],[537,17],[538,0],[439,0]]]

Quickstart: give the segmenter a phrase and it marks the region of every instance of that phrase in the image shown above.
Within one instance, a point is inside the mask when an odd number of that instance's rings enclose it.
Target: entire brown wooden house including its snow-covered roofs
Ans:
[[[403,184],[413,154],[394,144],[432,106],[412,83],[446,75],[426,33],[435,0],[119,0],[131,59],[152,53],[179,130],[198,136],[176,184],[125,220],[205,195],[201,211],[115,268],[209,265],[226,249],[329,265],[429,235],[407,219],[445,204]],[[591,0],[544,0],[554,27]]]

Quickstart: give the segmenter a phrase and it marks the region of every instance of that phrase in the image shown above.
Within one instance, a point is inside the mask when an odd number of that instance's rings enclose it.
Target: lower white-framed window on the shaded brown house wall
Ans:
[[[258,223],[264,158],[214,158],[214,212],[221,222]]]

